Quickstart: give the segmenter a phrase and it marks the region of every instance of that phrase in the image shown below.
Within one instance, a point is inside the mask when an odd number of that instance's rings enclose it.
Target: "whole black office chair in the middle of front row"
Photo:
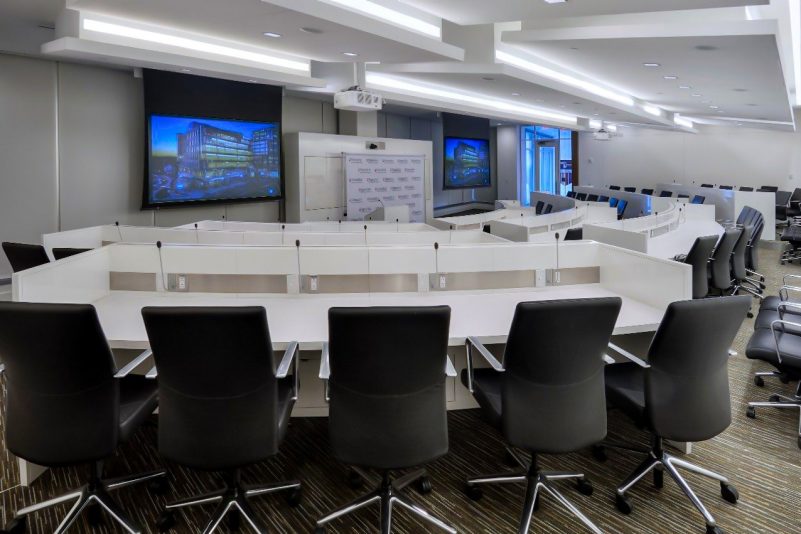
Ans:
[[[396,504],[447,532],[456,530],[418,507],[401,490],[415,482],[431,491],[424,469],[392,480],[390,472],[430,463],[448,452],[445,378],[448,306],[331,308],[320,376],[328,380],[328,431],[334,457],[381,471],[375,491],[317,521],[325,525],[373,502],[381,532],[392,529]],[[453,373],[455,374],[455,373]]]

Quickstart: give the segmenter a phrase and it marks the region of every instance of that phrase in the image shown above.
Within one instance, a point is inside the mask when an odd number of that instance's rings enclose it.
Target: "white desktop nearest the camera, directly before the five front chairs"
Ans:
[[[148,347],[141,309],[145,306],[264,306],[277,348],[299,341],[304,350],[319,350],[328,340],[328,309],[334,306],[451,307],[450,345],[476,336],[485,343],[503,343],[517,303],[535,300],[618,296],[600,284],[512,290],[430,293],[328,295],[179,294],[113,291],[94,302],[112,348]],[[623,297],[615,335],[655,331],[664,311]]]

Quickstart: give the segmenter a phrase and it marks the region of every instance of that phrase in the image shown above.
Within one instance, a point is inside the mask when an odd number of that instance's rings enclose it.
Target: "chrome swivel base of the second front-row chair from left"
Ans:
[[[248,499],[259,495],[267,495],[268,493],[282,491],[289,492],[286,495],[286,500],[290,506],[294,507],[300,504],[301,486],[299,481],[293,480],[289,482],[248,486],[241,483],[239,470],[234,470],[226,474],[226,486],[224,489],[205,495],[189,497],[166,505],[164,511],[158,518],[156,526],[161,532],[167,531],[175,526],[176,520],[174,512],[179,508],[218,503],[217,509],[211,516],[206,528],[203,529],[203,534],[211,534],[217,530],[223,519],[226,519],[226,516],[228,516],[228,526],[233,529],[238,529],[240,519],[244,518],[245,522],[254,532],[264,534],[267,532],[267,529],[258,521],[256,513],[251,508]],[[228,515],[229,512],[234,513]]]

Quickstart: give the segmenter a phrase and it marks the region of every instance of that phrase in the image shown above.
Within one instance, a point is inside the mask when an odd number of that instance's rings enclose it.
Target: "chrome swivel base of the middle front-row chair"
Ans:
[[[356,473],[361,473],[358,469],[353,469]],[[414,484],[415,482],[420,482],[420,488],[424,493],[431,491],[431,485],[428,483],[428,479],[426,477],[425,469],[420,469],[417,471],[413,471],[408,473],[396,480],[390,480],[389,473],[384,473],[382,475],[381,485],[375,490],[367,495],[359,497],[355,501],[351,502],[336,510],[327,516],[323,517],[322,519],[317,521],[317,528],[315,529],[315,534],[324,534],[326,531],[325,526],[330,523],[331,521],[338,519],[340,517],[346,516],[351,514],[365,506],[368,506],[374,502],[379,502],[381,505],[381,534],[390,534],[392,531],[392,513],[393,509],[396,504],[399,504],[403,508],[406,508],[408,511],[412,512],[413,514],[417,515],[418,517],[428,521],[435,527],[438,527],[445,532],[449,532],[450,534],[456,534],[456,529],[448,525],[447,523],[441,521],[440,519],[434,517],[423,508],[420,508],[412,501],[410,501],[406,496],[401,494],[401,491]],[[355,484],[351,484],[355,486]]]

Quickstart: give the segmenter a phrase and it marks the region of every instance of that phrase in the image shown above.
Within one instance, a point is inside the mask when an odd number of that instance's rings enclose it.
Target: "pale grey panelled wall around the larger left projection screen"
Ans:
[[[284,132],[336,133],[333,105],[287,96]],[[277,202],[141,211],[142,80],[129,70],[0,54],[0,241],[121,224],[274,222]],[[0,254],[0,280],[10,276]]]

